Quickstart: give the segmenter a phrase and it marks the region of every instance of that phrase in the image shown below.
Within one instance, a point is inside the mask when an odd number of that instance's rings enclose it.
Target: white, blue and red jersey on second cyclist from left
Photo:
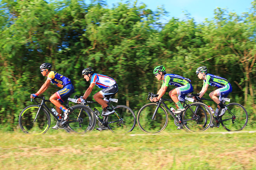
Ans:
[[[108,88],[116,84],[116,81],[108,76],[94,73],[90,83],[95,83],[99,88]]]

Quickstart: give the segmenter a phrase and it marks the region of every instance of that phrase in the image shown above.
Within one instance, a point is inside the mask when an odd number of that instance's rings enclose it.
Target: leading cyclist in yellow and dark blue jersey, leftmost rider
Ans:
[[[57,116],[61,118],[60,114],[62,110],[64,112],[64,120],[66,120],[68,118],[69,111],[62,105],[62,103],[66,101],[69,95],[74,92],[74,87],[69,78],[62,76],[54,71],[51,71],[51,68],[52,64],[50,63],[43,63],[40,66],[41,74],[47,77],[47,80],[38,90],[38,92],[36,92],[35,94],[31,94],[30,98],[34,99],[36,96],[45,92],[49,87],[50,83],[56,85],[57,87],[60,87],[61,90],[54,93],[49,100],[56,106],[56,111],[58,112]],[[58,126],[55,125],[53,129],[58,129]]]

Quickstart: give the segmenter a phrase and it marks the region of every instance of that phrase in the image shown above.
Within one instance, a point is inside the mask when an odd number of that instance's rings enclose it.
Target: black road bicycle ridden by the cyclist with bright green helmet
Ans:
[[[149,93],[149,97],[157,97],[158,94]],[[161,98],[156,103],[149,103],[139,110],[137,115],[137,123],[140,129],[148,134],[162,132],[168,124],[168,114],[174,118],[174,123],[178,127],[185,127],[190,132],[204,132],[209,129],[213,116],[209,107],[202,102],[194,102],[189,104],[188,101],[192,101],[192,98],[185,98],[183,106],[185,111],[181,114],[175,115],[164,101],[171,101],[171,99]],[[193,99],[194,101],[194,99]],[[163,106],[162,106],[163,105]]]

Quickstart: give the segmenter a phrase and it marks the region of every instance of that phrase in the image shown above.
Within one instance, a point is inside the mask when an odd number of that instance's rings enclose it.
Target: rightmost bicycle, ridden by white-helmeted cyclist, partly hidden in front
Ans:
[[[203,102],[202,100],[213,101],[211,99],[201,98],[200,102]],[[221,109],[219,109],[218,115],[214,116],[211,128],[220,127],[221,123],[222,127],[229,132],[243,130],[248,122],[248,113],[246,109],[238,103],[230,103],[226,105],[225,101],[230,102],[229,98],[222,97],[220,100],[228,109],[222,116],[219,116],[221,113]]]

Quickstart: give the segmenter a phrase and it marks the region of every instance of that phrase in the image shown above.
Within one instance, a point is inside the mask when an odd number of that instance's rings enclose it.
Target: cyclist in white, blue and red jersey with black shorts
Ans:
[[[102,106],[101,115],[106,116],[111,113],[114,113],[114,110],[112,108],[107,108],[107,107],[108,107],[110,96],[118,92],[118,86],[116,84],[116,81],[113,78],[110,78],[108,76],[93,73],[93,72],[94,70],[91,67],[86,68],[82,71],[83,78],[86,79],[87,82],[90,81],[90,86],[85,91],[85,94],[78,99],[78,102],[82,102],[83,100],[86,100],[87,97],[92,92],[93,87],[96,85],[99,88],[103,88],[103,90],[97,92],[93,96],[94,100],[97,101]]]

